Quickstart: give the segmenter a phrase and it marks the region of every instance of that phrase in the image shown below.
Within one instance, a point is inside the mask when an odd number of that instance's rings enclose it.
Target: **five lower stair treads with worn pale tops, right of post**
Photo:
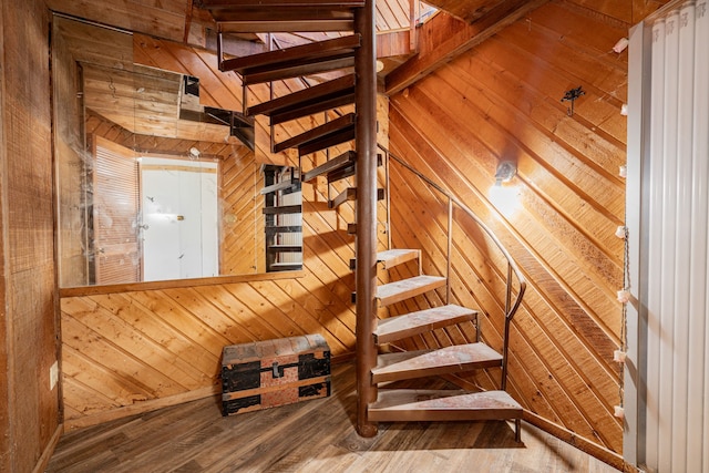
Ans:
[[[384,268],[419,260],[420,251],[392,249],[378,254]],[[377,300],[388,306],[420,296],[445,286],[446,278],[421,275],[378,287]],[[477,311],[456,305],[445,305],[380,320],[373,332],[374,342],[381,347],[397,340],[471,321],[480,333]],[[414,378],[452,374],[490,368],[503,368],[504,357],[480,341],[454,345],[435,350],[381,353],[371,369],[376,384],[386,384]],[[463,390],[410,390],[378,389],[378,399],[369,404],[368,419],[374,422],[391,421],[476,421],[514,420],[515,436],[520,438],[522,407],[504,389],[469,392]]]

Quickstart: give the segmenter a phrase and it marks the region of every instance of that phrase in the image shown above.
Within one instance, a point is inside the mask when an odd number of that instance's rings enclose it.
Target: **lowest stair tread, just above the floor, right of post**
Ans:
[[[521,419],[522,413],[505,391],[382,389],[367,417],[372,422],[480,421]]]

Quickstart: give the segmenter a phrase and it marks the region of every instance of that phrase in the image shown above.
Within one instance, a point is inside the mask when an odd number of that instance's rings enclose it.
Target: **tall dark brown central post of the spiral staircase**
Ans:
[[[374,0],[354,13],[354,31],[361,47],[354,55],[357,74],[357,431],[374,436],[377,424],[367,419],[377,400],[371,369],[377,363],[374,316],[377,313],[377,64],[374,54]]]

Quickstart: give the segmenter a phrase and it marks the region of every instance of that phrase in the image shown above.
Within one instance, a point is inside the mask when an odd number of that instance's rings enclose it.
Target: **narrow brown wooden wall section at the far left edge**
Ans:
[[[59,439],[49,16],[0,7],[0,470],[38,469]]]

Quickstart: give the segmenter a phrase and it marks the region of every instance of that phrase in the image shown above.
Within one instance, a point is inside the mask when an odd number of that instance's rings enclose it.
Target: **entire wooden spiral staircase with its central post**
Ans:
[[[219,47],[218,56],[222,71],[235,71],[242,76],[245,114],[268,116],[271,137],[275,135],[274,126],[288,121],[321,112],[339,115],[280,142],[271,138],[273,153],[297,150],[300,160],[305,155],[354,141],[354,150],[302,172],[301,178],[302,182],[311,182],[318,176],[327,176],[330,208],[337,208],[348,200],[356,203],[358,222],[350,224],[350,230],[357,236],[356,263],[352,266],[357,267],[358,432],[363,436],[374,435],[377,422],[500,419],[515,421],[518,440],[522,407],[504,390],[506,340],[502,354],[484,345],[480,337],[474,343],[440,350],[378,353],[386,343],[449,325],[473,321],[477,327],[477,312],[446,305],[379,321],[377,319],[376,305],[386,307],[436,290],[444,287],[448,280],[421,273],[419,250],[389,249],[379,254],[376,250],[376,206],[377,199],[383,198],[384,189],[377,188],[377,166],[381,164],[381,157],[377,155],[376,144],[373,0],[201,0],[201,6],[209,10],[217,21],[219,44],[222,34],[227,32],[353,31],[321,42],[244,58],[224,58]],[[351,72],[352,68],[354,73]],[[332,71],[342,73],[316,86],[248,105],[247,91],[253,84]],[[351,103],[354,103],[356,112],[338,114],[336,111]],[[330,184],[348,177],[354,177],[356,186],[348,186],[330,197]],[[295,182],[289,185],[295,185]],[[270,192],[275,186],[277,184],[270,188],[267,186],[266,191]],[[292,249],[277,244],[271,248],[274,251]],[[417,276],[382,286],[377,286],[377,277],[371,276],[376,270],[364,270],[374,269],[378,265],[390,269],[414,263],[419,268]],[[506,328],[505,335],[507,332]],[[404,379],[493,368],[502,369],[502,385],[497,391],[386,389],[386,384]]]

